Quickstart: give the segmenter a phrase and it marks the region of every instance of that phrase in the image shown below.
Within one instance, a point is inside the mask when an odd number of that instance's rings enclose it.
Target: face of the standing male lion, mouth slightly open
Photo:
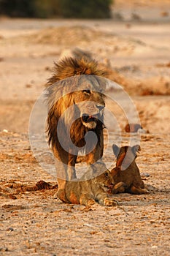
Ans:
[[[88,129],[95,129],[98,119],[103,121],[104,97],[98,91],[85,89],[74,93],[74,104],[80,110],[82,124]]]

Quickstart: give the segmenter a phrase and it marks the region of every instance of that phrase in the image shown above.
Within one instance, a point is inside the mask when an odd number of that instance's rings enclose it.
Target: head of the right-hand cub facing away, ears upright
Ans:
[[[116,167],[120,170],[125,170],[131,163],[136,159],[136,153],[141,150],[139,145],[131,146],[122,146],[119,148],[117,145],[112,145],[113,153],[117,158]]]

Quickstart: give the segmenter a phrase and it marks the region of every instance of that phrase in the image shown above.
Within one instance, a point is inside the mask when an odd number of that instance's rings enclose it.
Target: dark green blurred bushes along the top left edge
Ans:
[[[0,15],[31,18],[110,18],[112,0],[0,0]]]

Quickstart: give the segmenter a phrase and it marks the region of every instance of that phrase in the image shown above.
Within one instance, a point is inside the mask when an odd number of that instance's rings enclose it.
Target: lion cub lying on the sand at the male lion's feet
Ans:
[[[105,165],[95,163],[90,165],[80,181],[66,181],[66,188],[58,191],[58,197],[65,203],[90,206],[98,202],[103,206],[115,206],[117,201],[107,194],[113,185],[114,180]]]

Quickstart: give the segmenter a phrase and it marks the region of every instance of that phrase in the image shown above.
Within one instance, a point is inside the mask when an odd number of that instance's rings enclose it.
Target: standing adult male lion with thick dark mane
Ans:
[[[85,150],[88,165],[103,155],[104,75],[96,61],[69,57],[55,63],[47,84],[48,141],[58,160],[58,197],[64,202],[66,180],[77,177],[78,151]]]

